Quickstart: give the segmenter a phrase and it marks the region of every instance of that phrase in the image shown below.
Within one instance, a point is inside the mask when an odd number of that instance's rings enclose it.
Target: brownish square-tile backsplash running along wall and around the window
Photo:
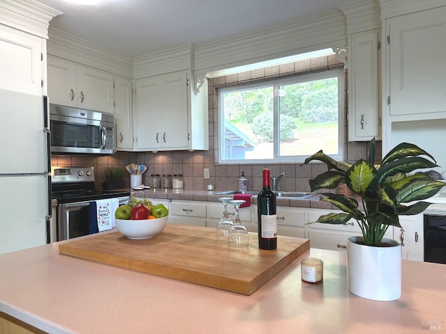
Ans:
[[[101,189],[103,170],[109,166],[125,167],[131,163],[144,164],[148,167],[143,175],[143,183],[149,184],[151,174],[181,174],[185,189],[206,190],[208,184],[214,184],[215,190],[238,189],[238,177],[245,174],[249,190],[260,190],[262,169],[270,168],[271,175],[286,173],[278,189],[282,191],[309,191],[308,180],[325,170],[325,165],[312,164],[216,164],[217,161],[217,89],[249,84],[254,81],[275,79],[308,72],[319,72],[343,64],[334,56],[324,56],[307,61],[299,61],[285,65],[266,67],[260,70],[229,74],[224,77],[208,79],[208,112],[209,112],[209,150],[208,151],[165,151],[165,152],[116,152],[109,156],[95,157],[92,154],[73,156],[52,156],[52,166],[93,166],[95,168],[96,187]],[[347,105],[347,103],[346,103]],[[347,113],[347,110],[346,110]],[[345,113],[345,115],[346,115]],[[346,116],[345,116],[346,117]],[[347,124],[347,122],[345,122]],[[347,133],[347,128],[344,128]],[[376,145],[376,157],[380,157],[381,143]],[[366,159],[367,143],[345,143],[345,161]],[[204,168],[209,169],[209,179],[204,179]],[[130,187],[130,176],[125,173],[125,184]]]

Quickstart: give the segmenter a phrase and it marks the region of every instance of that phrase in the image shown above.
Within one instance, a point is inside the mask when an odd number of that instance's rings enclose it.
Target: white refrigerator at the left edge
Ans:
[[[47,98],[0,89],[0,254],[47,244],[51,154]]]

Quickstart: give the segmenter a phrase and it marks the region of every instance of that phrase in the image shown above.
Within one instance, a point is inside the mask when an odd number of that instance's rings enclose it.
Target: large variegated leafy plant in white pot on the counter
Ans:
[[[314,222],[345,224],[352,218],[357,221],[362,237],[351,237],[347,241],[348,289],[367,299],[390,301],[401,297],[401,246],[384,238],[384,234],[389,226],[401,228],[399,215],[423,212],[431,205],[423,200],[438,193],[445,184],[431,180],[426,173],[406,174],[437,166],[431,154],[417,145],[397,145],[379,165],[374,164],[375,145],[374,138],[368,160],[360,159],[355,164],[336,161],[322,150],[305,159],[304,164],[321,161],[328,166],[326,172],[309,180],[312,191],[346,184],[353,192],[350,197],[321,193],[321,200],[332,203],[342,212],[320,216]]]

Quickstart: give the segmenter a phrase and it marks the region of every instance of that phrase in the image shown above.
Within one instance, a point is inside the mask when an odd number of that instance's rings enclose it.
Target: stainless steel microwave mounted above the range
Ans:
[[[52,153],[114,152],[114,116],[49,104]]]

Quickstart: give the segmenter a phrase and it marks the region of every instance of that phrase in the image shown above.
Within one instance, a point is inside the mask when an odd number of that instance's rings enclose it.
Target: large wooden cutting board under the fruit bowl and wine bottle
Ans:
[[[257,234],[248,248],[217,241],[215,228],[167,224],[151,239],[100,233],[59,245],[59,253],[185,282],[252,294],[309,249],[309,240],[277,237],[276,250],[261,250]]]

